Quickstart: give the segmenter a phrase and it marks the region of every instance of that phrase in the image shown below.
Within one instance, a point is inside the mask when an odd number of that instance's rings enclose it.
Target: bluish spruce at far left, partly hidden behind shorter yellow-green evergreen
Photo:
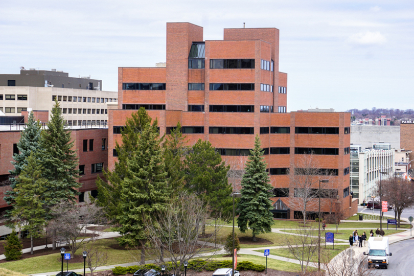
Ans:
[[[41,126],[39,122],[36,122],[33,112],[30,112],[28,122],[23,131],[21,131],[20,140],[17,143],[17,148],[19,150],[18,154],[13,155],[14,161],[14,170],[9,171],[11,177],[9,178],[11,185],[10,191],[5,192],[5,197],[3,198],[7,204],[12,205],[16,197],[16,190],[14,189],[18,183],[18,175],[20,174],[22,168],[27,165],[27,158],[32,152],[37,152],[40,148]],[[9,216],[10,212],[6,214]]]

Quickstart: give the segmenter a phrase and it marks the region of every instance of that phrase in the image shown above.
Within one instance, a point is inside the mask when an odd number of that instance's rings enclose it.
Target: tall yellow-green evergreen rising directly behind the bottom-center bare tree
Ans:
[[[167,172],[160,148],[157,121],[141,125],[134,153],[127,159],[127,173],[120,182],[119,213],[121,244],[141,244],[141,264],[145,263],[145,221],[156,221],[170,198]]]

